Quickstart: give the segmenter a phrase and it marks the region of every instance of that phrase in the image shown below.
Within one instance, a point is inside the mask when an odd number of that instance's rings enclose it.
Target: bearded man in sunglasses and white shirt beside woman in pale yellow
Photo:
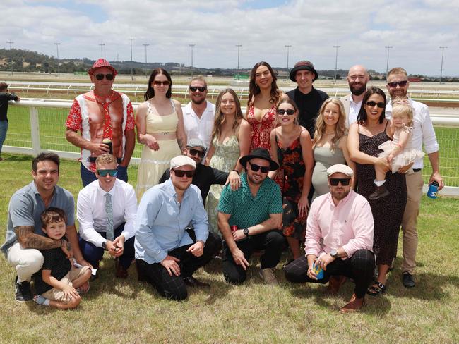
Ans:
[[[207,83],[203,76],[193,78],[189,86],[191,102],[184,108],[185,133],[188,140],[199,139],[210,147],[215,105],[205,100]]]

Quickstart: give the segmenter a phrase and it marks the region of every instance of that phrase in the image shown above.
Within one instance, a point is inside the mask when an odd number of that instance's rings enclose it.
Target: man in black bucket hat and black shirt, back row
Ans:
[[[318,78],[317,70],[310,61],[299,61],[290,70],[290,80],[297,82],[298,87],[287,92],[299,109],[299,124],[309,131],[314,137],[314,125],[318,110],[328,98],[328,94],[313,87],[312,83]]]

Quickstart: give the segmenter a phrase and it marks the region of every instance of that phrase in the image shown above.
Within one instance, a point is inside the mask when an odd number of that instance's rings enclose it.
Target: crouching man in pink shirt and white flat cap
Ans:
[[[352,168],[342,164],[328,168],[330,192],[317,197],[309,210],[306,254],[285,269],[285,277],[292,282],[325,284],[330,279],[329,290],[333,292],[339,288],[339,278],[334,276],[352,278],[354,294],[340,309],[341,313],[355,312],[362,307],[375,266],[371,252],[373,216],[368,201],[351,190],[353,174]],[[323,269],[323,276],[317,268]]]

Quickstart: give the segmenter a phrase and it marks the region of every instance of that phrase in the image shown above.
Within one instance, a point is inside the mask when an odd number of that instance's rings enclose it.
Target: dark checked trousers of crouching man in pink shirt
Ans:
[[[335,259],[323,271],[323,278],[314,280],[307,276],[309,265],[308,259],[303,256],[295,259],[285,268],[285,278],[290,282],[311,282],[325,284],[330,276],[346,276],[352,278],[355,282],[354,293],[357,297],[365,296],[373,280],[374,253],[369,250],[358,250],[352,254],[352,257],[345,260]]]

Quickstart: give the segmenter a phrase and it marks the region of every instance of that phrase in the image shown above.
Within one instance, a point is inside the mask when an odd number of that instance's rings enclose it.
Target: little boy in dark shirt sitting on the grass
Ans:
[[[41,216],[43,233],[53,240],[67,240],[64,236],[66,219],[64,210],[49,207]],[[60,309],[77,307],[81,302],[80,294],[89,290],[90,267],[75,267],[73,257],[68,258],[60,248],[40,252],[44,262],[42,269],[33,276],[37,292],[33,300],[39,305]]]

